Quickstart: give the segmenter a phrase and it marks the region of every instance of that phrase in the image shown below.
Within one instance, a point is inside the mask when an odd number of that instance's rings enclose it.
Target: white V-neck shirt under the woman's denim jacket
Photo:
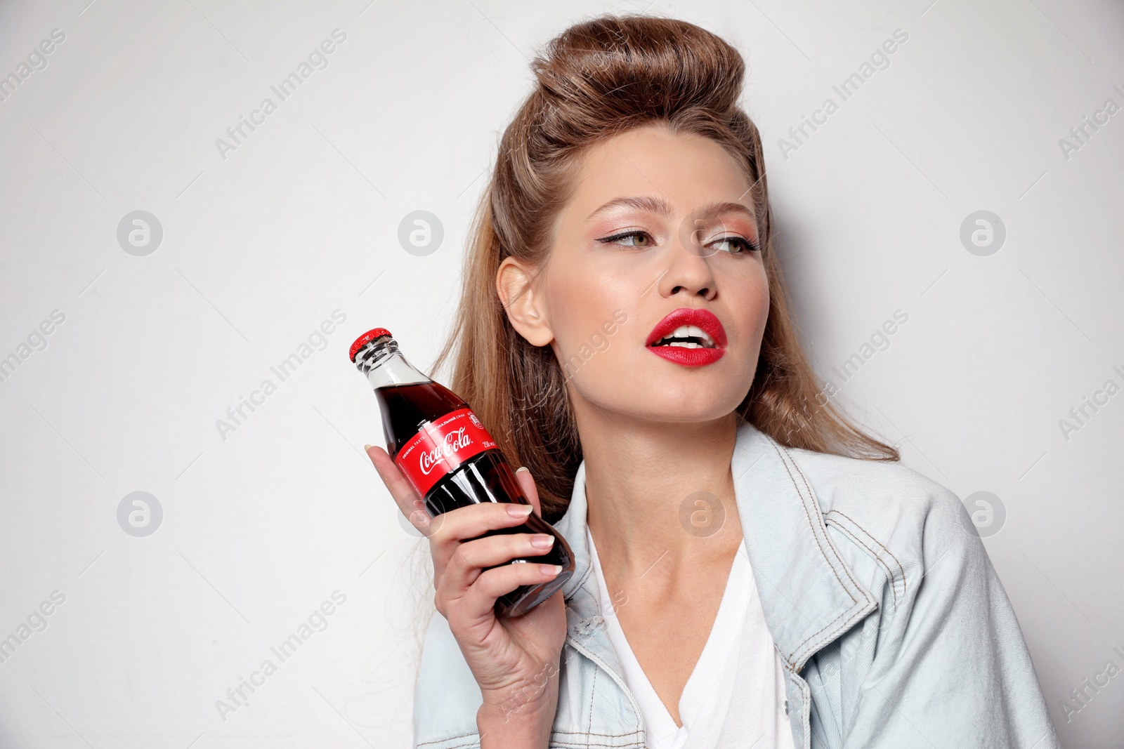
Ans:
[[[738,545],[718,614],[683,693],[676,725],[617,621],[593,537],[586,529],[606,632],[625,684],[640,704],[649,749],[794,749],[785,714],[785,673],[765,624],[744,544]]]

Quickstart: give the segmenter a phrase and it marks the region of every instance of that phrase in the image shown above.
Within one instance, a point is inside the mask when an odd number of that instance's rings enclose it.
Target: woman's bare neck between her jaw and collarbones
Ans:
[[[654,422],[606,412],[580,395],[571,402],[586,462],[587,524],[604,569],[636,578],[659,564],[673,575],[733,557],[742,542],[729,467],[736,413]]]

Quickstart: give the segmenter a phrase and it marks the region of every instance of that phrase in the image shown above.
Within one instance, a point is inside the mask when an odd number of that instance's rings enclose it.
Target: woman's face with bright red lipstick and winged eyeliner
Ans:
[[[708,421],[742,402],[769,313],[750,186],[722,146],[665,127],[587,152],[534,282],[532,342],[550,342],[575,407]]]

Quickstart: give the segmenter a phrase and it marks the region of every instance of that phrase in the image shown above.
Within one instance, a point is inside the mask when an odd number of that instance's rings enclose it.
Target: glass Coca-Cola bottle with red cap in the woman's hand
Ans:
[[[430,517],[481,502],[529,504],[510,464],[469,404],[451,390],[415,369],[398,353],[386,328],[355,339],[351,359],[366,375],[379,399],[387,453],[425,500]],[[562,535],[531,513],[527,521],[496,533],[550,533],[554,546],[537,557],[513,563],[560,565],[556,577],[523,585],[496,601],[505,615],[526,613],[551,597],[573,575],[573,552]],[[482,538],[482,537],[481,537]]]

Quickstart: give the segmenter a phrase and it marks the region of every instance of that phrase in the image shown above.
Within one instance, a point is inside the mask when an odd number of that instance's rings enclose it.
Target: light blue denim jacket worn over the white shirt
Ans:
[[[900,464],[785,448],[747,423],[731,465],[796,747],[1060,748],[1010,603],[951,491]],[[555,523],[577,572],[551,747],[643,747],[590,569],[584,473]],[[415,747],[478,747],[480,704],[434,614]]]

